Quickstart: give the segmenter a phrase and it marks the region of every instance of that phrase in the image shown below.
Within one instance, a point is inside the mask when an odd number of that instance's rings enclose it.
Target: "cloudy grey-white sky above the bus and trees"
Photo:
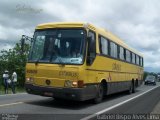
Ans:
[[[0,50],[38,24],[82,21],[114,33],[143,54],[145,71],[160,72],[159,12],[159,0],[1,0]]]

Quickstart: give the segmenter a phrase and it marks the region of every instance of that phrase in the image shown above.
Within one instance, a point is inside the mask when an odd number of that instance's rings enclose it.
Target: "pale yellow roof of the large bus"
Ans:
[[[139,56],[143,56],[140,54],[137,50],[129,47],[123,40],[121,40],[119,37],[115,36],[113,33],[109,32],[108,30],[105,30],[103,28],[96,27],[92,24],[85,23],[85,22],[53,22],[53,23],[45,23],[40,24],[36,27],[36,29],[48,29],[48,28],[89,28],[96,32],[98,32],[100,35],[108,38],[109,40],[119,44],[120,46],[123,46],[124,48],[136,53]]]

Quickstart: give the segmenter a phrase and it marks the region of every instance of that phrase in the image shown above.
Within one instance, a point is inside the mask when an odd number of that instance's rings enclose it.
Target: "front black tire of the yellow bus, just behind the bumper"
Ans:
[[[98,89],[97,89],[97,95],[94,98],[94,103],[100,103],[103,100],[103,96],[104,96],[104,88],[103,88],[103,84],[99,84],[98,85]]]

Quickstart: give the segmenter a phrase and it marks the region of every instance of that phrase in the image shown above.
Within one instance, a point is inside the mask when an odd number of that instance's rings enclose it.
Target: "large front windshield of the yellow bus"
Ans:
[[[37,30],[28,61],[82,64],[85,36],[82,29]]]

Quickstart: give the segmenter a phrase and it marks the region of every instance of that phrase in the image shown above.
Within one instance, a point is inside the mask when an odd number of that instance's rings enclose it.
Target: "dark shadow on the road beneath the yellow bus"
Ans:
[[[138,90],[136,90],[136,92],[138,92]],[[71,101],[71,100],[55,100],[54,98],[34,100],[34,101],[25,102],[25,103],[31,104],[31,105],[43,106],[43,107],[80,110],[80,109],[88,108],[90,106],[97,106],[105,102],[112,101],[114,99],[125,97],[127,95],[129,94],[127,94],[126,92],[120,92],[120,93],[116,93],[112,95],[107,95],[104,97],[103,101],[99,104],[94,104],[93,100]]]

